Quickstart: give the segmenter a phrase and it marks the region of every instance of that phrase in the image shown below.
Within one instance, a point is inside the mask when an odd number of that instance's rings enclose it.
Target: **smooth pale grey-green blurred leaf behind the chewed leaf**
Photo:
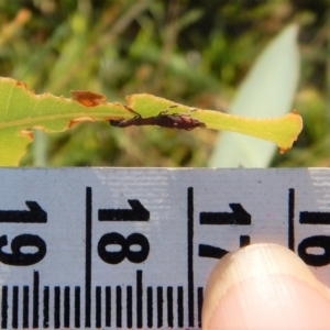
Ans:
[[[241,85],[229,113],[266,118],[283,116],[290,110],[299,76],[297,33],[297,25],[289,25],[261,54]],[[209,165],[266,167],[274,152],[275,145],[270,142],[221,132]]]

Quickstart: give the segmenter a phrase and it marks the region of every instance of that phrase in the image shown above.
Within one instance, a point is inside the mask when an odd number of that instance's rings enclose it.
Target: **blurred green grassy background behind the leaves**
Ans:
[[[300,26],[304,131],[272,166],[330,165],[330,0],[0,0],[0,76],[36,94],[148,92],[226,111],[256,56]],[[22,166],[206,166],[218,132],[84,123],[37,134]]]

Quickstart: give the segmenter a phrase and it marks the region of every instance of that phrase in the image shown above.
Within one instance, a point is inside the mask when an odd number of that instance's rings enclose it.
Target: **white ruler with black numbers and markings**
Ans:
[[[1,168],[1,329],[201,327],[240,246],[295,251],[330,285],[330,170]]]

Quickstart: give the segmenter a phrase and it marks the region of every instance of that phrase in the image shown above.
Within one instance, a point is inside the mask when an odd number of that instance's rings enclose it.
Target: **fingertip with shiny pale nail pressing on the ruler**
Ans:
[[[212,271],[202,328],[330,329],[330,294],[292,251],[250,245],[224,256]]]

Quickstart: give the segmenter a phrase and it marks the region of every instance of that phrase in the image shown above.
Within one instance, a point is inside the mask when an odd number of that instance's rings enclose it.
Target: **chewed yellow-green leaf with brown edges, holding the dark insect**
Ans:
[[[292,146],[302,128],[297,113],[276,119],[246,119],[194,109],[146,94],[127,97],[128,106],[106,102],[105,96],[91,91],[76,90],[72,91],[72,99],[66,99],[50,94],[35,95],[28,90],[25,84],[0,78],[0,165],[18,165],[33,138],[33,130],[62,132],[81,121],[121,121],[175,114],[183,120],[197,120],[210,129],[266,139],[282,150]]]

